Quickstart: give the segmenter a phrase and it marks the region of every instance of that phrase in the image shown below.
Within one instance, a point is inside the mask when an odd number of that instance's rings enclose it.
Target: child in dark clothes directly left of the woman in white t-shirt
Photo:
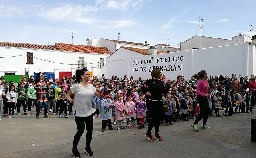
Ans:
[[[62,111],[64,111],[65,115],[64,117],[68,118],[67,116],[67,91],[65,91],[65,86],[61,86],[61,91],[58,94],[58,100],[59,100],[59,118],[62,118]],[[57,88],[55,88],[57,89]]]

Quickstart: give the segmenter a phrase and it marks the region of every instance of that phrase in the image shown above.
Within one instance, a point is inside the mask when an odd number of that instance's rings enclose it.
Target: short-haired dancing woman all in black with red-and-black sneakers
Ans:
[[[151,117],[148,124],[148,131],[146,133],[146,137],[150,141],[153,141],[154,138],[157,140],[162,140],[162,138],[158,134],[160,118],[162,118],[163,115],[162,93],[165,95],[170,89],[170,84],[172,83],[172,81],[168,80],[168,85],[164,87],[164,83],[158,80],[161,78],[161,75],[162,74],[160,69],[154,68],[151,72],[152,78],[146,80],[141,88],[141,91],[146,96],[146,107]],[[153,126],[155,127],[154,138],[151,135],[151,130]]]

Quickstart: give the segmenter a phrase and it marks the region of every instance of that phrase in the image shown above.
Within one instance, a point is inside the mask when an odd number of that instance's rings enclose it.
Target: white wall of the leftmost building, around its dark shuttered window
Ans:
[[[33,52],[34,64],[27,64],[26,69],[31,66],[36,73],[38,72],[54,72],[55,66],[61,68],[61,64],[51,63],[53,61],[61,63],[61,51],[44,50],[44,49],[29,49],[29,48],[16,48],[16,47],[0,47],[0,57],[24,55],[19,57],[0,58],[0,65],[3,71],[16,72],[17,75],[24,74],[26,65],[26,52]],[[42,61],[47,60],[47,61]]]

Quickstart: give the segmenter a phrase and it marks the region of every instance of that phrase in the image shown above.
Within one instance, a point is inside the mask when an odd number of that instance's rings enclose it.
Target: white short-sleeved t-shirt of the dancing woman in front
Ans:
[[[96,88],[89,84],[84,87],[82,84],[73,84],[70,88],[71,92],[75,94],[75,103],[73,108],[73,115],[80,117],[87,117],[92,115],[96,109],[92,108],[92,98],[96,92]]]

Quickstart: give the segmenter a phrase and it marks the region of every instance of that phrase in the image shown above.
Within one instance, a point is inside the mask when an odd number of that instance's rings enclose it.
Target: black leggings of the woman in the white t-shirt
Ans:
[[[86,126],[86,146],[90,147],[92,142],[92,129],[93,129],[93,117],[92,115],[87,117],[77,117],[75,116],[75,121],[77,124],[77,133],[74,136],[73,149],[77,149],[77,144],[84,133],[84,124]]]

